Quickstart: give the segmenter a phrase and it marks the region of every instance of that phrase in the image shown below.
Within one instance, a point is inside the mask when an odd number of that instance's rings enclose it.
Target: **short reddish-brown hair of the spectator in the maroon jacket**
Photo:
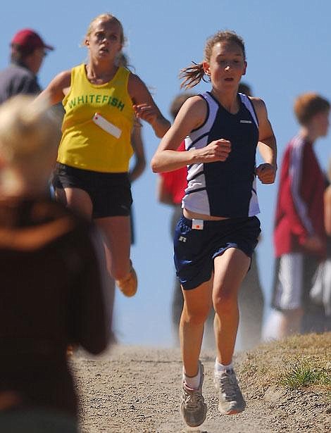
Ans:
[[[307,125],[314,115],[330,110],[330,102],[317,93],[299,95],[294,101],[294,113],[300,125]]]

